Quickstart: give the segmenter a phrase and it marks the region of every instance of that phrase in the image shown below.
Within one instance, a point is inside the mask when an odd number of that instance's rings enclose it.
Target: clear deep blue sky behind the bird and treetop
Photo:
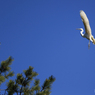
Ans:
[[[94,9],[95,0],[0,0],[0,62],[12,56],[15,75],[33,66],[41,84],[53,75],[51,95],[95,95],[95,45],[76,30],[84,10],[95,37]]]

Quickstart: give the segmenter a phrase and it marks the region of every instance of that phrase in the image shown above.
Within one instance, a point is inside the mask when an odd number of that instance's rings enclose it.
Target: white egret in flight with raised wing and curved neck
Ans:
[[[95,44],[95,39],[94,39],[94,37],[92,36],[92,33],[91,33],[89,20],[88,20],[85,12],[83,10],[80,10],[80,16],[81,16],[82,22],[84,24],[85,33],[83,34],[83,32],[84,32],[83,28],[78,28],[77,30],[81,30],[80,31],[81,36],[84,37],[84,38],[87,38],[89,40],[88,47],[90,47],[90,41],[93,44]]]

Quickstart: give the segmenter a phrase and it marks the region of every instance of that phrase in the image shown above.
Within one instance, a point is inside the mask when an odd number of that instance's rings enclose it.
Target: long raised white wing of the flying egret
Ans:
[[[91,28],[90,28],[89,20],[88,20],[85,12],[83,10],[80,11],[80,16],[82,18],[82,21],[83,21],[83,24],[84,24],[84,27],[85,27],[85,32],[88,35],[91,35]]]

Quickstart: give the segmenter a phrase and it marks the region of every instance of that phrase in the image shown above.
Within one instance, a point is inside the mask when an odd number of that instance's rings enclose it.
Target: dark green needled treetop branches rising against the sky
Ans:
[[[2,61],[0,65],[0,83],[3,83],[9,76],[13,76],[13,72],[10,71],[12,61],[11,57],[6,61]],[[18,73],[15,80],[9,80],[4,95],[13,95],[15,93],[17,95],[50,95],[51,86],[55,78],[50,76],[40,86],[40,80],[36,78],[38,73],[33,69],[32,66],[29,66],[28,69],[23,70],[23,73]],[[33,84],[32,86],[31,83]]]

